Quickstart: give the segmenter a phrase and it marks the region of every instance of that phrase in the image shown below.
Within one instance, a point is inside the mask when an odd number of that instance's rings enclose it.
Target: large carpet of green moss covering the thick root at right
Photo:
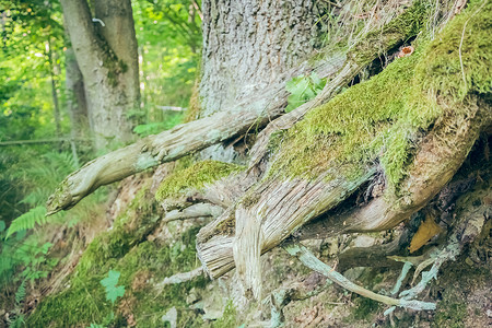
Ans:
[[[420,136],[440,117],[464,110],[465,95],[490,93],[491,4],[480,5],[470,5],[433,42],[420,40],[411,56],[311,110],[285,133],[270,174],[314,178],[341,167],[338,174],[353,178],[379,161],[396,187]]]

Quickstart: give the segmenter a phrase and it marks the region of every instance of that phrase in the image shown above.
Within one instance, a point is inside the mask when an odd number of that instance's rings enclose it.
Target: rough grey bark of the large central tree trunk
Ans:
[[[201,116],[277,83],[320,45],[323,1],[204,0]]]

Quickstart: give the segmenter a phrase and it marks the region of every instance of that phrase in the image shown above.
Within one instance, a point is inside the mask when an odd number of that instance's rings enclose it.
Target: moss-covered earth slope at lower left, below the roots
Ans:
[[[112,312],[115,319],[109,327],[125,327],[130,321],[137,327],[165,327],[161,318],[173,306],[179,313],[179,327],[202,324],[186,306],[186,296],[190,289],[203,286],[204,278],[166,286],[161,293],[153,289],[165,277],[198,266],[194,247],[198,229],[184,232],[173,244],[147,241],[159,223],[152,200],[147,189],[138,194],[114,229],[90,244],[65,289],[39,304],[27,320],[28,327],[87,327],[102,324]],[[118,285],[125,286],[124,297],[115,305],[106,301],[101,284],[109,270],[121,273]]]

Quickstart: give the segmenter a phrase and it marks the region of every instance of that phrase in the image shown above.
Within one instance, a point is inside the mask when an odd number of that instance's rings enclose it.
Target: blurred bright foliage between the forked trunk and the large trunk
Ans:
[[[132,1],[144,104],[138,113],[142,126],[134,131],[141,136],[176,124],[175,115],[161,106],[189,105],[201,47],[201,20],[194,3],[199,5],[200,1]]]

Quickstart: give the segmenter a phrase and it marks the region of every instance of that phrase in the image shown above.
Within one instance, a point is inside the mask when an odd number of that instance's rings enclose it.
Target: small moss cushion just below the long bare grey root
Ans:
[[[162,201],[168,197],[186,192],[187,190],[200,190],[207,184],[211,184],[243,169],[243,166],[218,161],[198,162],[188,168],[177,171],[166,177],[159,187],[155,199]]]

